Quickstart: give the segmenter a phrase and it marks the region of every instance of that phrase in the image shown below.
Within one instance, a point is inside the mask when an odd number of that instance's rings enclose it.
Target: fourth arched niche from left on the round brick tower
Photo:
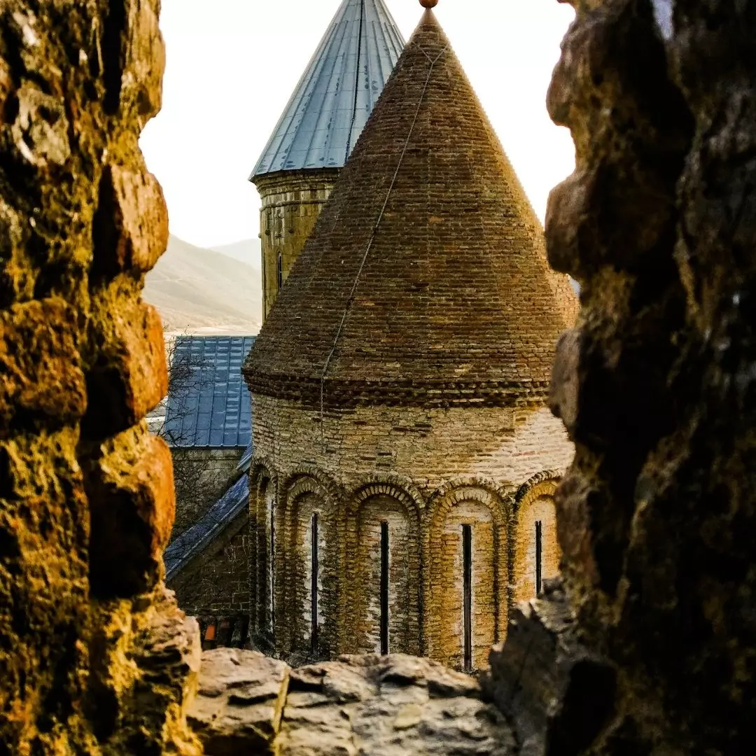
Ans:
[[[488,664],[507,627],[507,511],[494,485],[459,485],[431,502],[427,524],[429,655],[456,669]]]

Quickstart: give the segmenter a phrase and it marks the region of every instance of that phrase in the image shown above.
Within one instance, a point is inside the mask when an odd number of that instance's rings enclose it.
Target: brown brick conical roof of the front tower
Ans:
[[[324,407],[544,401],[577,303],[432,11],[245,366]]]

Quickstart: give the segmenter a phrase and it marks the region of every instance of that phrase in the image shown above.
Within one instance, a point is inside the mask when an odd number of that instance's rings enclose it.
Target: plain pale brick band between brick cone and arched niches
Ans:
[[[332,473],[346,488],[366,472],[393,472],[426,491],[467,476],[519,486],[565,469],[574,450],[545,407],[367,406],[321,413],[295,401],[253,395],[256,457],[283,474]]]

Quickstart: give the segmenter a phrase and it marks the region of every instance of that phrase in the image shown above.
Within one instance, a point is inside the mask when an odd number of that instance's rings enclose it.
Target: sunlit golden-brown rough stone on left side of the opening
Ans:
[[[138,136],[157,0],[0,4],[0,753],[197,753],[197,624],[162,586],[166,246]]]

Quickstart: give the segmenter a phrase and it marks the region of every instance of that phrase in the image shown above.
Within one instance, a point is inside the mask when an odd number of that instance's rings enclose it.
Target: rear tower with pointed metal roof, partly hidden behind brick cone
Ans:
[[[383,0],[343,0],[249,180],[262,198],[262,318],[404,48]]]

